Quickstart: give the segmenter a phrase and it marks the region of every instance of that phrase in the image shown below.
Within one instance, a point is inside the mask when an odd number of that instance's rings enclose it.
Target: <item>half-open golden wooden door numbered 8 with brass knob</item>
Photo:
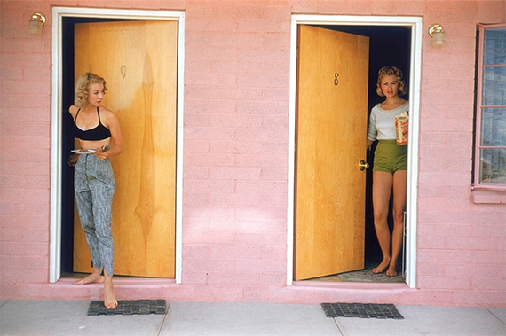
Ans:
[[[364,268],[368,37],[300,26],[295,279]]]

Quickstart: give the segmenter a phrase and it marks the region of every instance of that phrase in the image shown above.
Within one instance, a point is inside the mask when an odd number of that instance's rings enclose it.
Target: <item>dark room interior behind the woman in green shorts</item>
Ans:
[[[369,37],[369,84],[368,84],[368,113],[374,105],[381,103],[384,98],[376,94],[377,72],[383,66],[397,66],[404,73],[406,84],[409,83],[410,59],[411,59],[411,28],[399,26],[318,26],[337,30],[355,35]],[[407,90],[409,87],[407,85]],[[409,97],[407,92],[404,98]],[[364,129],[366,137],[367,129]],[[376,238],[372,206],[372,167],[374,160],[372,151],[368,151],[368,173],[366,178],[366,241],[365,241],[365,264],[375,265],[381,262],[383,254]],[[389,215],[389,224],[392,228],[393,221]],[[402,251],[401,251],[402,254]],[[402,255],[399,256],[402,258]],[[399,259],[402,260],[402,259]],[[401,265],[399,265],[400,270]]]

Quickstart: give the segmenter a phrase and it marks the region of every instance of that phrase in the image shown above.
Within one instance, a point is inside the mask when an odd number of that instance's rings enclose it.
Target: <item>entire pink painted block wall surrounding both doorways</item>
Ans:
[[[49,283],[52,6],[186,12],[182,284],[120,281],[119,298],[506,305],[506,197],[470,189],[476,27],[506,20],[502,0],[1,0],[2,298],[100,296]],[[423,18],[416,289],[286,285],[292,14]]]

